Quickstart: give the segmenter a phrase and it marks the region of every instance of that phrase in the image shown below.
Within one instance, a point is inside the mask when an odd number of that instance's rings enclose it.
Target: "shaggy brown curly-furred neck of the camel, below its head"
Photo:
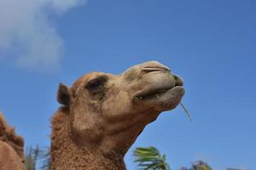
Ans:
[[[125,170],[123,156],[111,152],[81,147],[70,135],[70,122],[65,109],[60,109],[52,119],[51,169],[52,170]]]

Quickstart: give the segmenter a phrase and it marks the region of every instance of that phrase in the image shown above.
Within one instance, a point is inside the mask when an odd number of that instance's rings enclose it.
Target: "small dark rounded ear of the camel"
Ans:
[[[57,94],[57,100],[62,105],[69,105],[71,100],[71,94],[69,91],[69,88],[63,83],[60,83],[58,94]]]

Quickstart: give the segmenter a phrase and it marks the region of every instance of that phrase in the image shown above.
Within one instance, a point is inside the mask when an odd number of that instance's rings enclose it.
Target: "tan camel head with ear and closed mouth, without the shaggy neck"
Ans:
[[[150,61],[120,75],[91,72],[71,88],[61,83],[57,98],[68,109],[78,144],[125,155],[143,128],[174,109],[183,94],[182,79]]]

